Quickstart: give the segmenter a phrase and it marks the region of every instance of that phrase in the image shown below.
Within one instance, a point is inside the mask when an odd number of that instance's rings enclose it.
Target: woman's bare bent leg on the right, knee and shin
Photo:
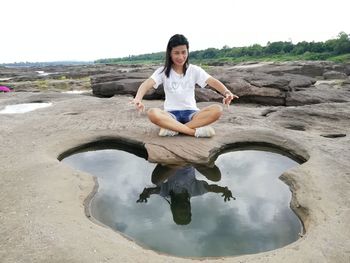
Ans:
[[[210,105],[197,112],[191,121],[185,125],[191,129],[203,127],[217,121],[222,115],[220,105]]]

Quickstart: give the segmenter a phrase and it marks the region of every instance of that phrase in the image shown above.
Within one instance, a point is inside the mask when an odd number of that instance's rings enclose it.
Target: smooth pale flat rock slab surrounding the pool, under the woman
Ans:
[[[145,147],[153,162],[206,163],[226,147],[273,145],[307,159],[282,175],[306,233],[269,252],[207,262],[350,262],[350,103],[300,107],[233,105],[210,139],[160,138],[130,97],[59,93],[0,94],[6,105],[51,102],[0,114],[1,262],[202,262],[158,254],[89,219],[92,176],[60,163],[68,149],[105,138]],[[160,107],[161,101],[145,101]],[[205,107],[208,103],[199,103]]]

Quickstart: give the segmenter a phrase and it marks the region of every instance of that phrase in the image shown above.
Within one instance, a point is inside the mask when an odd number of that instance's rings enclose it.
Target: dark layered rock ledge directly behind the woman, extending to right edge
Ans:
[[[93,93],[101,97],[115,94],[135,95],[137,87],[148,78],[156,67],[127,73],[95,75],[92,78]],[[239,102],[264,105],[296,106],[323,102],[349,101],[350,66],[331,62],[286,62],[236,66],[211,67],[207,71],[221,80]],[[318,80],[337,79],[337,89],[317,85]],[[323,84],[327,85],[327,84]],[[162,87],[147,94],[147,99],[162,99]],[[196,89],[197,101],[220,101],[215,91]]]

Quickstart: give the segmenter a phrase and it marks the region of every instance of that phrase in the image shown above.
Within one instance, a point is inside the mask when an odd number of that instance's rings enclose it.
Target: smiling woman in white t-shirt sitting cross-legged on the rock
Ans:
[[[204,88],[207,84],[224,96],[223,103],[229,105],[234,98],[224,84],[206,73],[202,68],[189,64],[189,43],[185,36],[174,35],[166,50],[164,67],[158,68],[139,87],[132,103],[138,111],[144,110],[142,98],[146,92],[164,86],[164,110],[151,108],[147,115],[150,121],[161,129],[159,136],[175,136],[179,133],[195,137],[212,137],[215,131],[209,124],[222,114],[220,105],[211,105],[201,110],[195,100],[195,85]]]

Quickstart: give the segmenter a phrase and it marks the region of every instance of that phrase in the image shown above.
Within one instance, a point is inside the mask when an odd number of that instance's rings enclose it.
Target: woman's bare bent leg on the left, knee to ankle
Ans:
[[[191,136],[194,136],[195,134],[195,129],[178,122],[173,117],[171,117],[169,113],[161,109],[151,108],[147,111],[147,115],[152,123],[161,128],[177,131]]]

